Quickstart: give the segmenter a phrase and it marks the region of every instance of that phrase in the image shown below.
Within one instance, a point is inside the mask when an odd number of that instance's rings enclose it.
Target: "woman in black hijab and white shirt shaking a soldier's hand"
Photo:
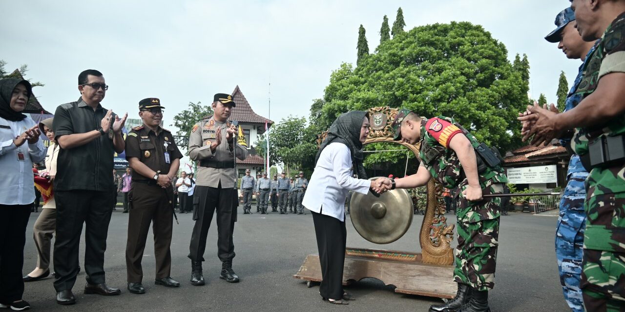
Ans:
[[[369,135],[369,115],[354,111],[340,115],[321,143],[302,205],[312,212],[322,281],[319,294],[330,303],[354,300],[342,288],[345,262],[345,198],[349,191],[366,194],[374,187],[362,167],[362,143]],[[354,171],[358,178],[352,177]]]

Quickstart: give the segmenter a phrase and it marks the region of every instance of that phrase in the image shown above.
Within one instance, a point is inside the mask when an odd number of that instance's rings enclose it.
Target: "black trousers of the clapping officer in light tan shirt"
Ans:
[[[196,185],[193,196],[197,198],[197,209],[193,214],[196,224],[191,234],[189,258],[192,261],[204,261],[206,236],[212,216],[217,212],[217,256],[221,261],[232,260],[235,256],[232,233],[239,203],[236,188],[221,188],[221,184],[216,188]]]

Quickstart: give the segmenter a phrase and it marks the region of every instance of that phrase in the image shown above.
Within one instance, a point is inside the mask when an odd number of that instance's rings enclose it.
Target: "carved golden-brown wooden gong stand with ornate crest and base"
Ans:
[[[392,142],[411,150],[419,159],[419,144],[411,145],[394,141],[391,122],[397,109],[374,107],[369,109],[371,132],[364,144]],[[319,136],[318,143],[326,133]],[[454,225],[447,226],[444,208],[439,201],[442,193],[434,179],[427,183],[426,215],[419,231],[421,253],[411,251],[346,248],[343,284],[347,285],[362,278],[377,278],[386,285],[396,286],[395,292],[412,295],[453,298],[457,284],[453,281],[454,255],[449,243],[452,241]],[[304,263],[293,276],[307,281],[321,281],[319,256],[307,255]]]

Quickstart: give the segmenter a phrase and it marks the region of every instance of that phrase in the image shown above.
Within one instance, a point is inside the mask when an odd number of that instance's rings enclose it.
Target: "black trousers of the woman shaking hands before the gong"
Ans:
[[[339,300],[343,298],[343,266],[347,240],[345,222],[316,212],[312,212],[312,222],[321,263],[322,281],[319,293],[323,298]]]

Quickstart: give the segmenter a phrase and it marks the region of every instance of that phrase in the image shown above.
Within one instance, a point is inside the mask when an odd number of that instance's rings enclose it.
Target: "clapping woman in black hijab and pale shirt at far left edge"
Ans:
[[[26,310],[22,300],[26,225],[35,199],[32,163],[46,157],[39,127],[22,110],[31,97],[26,80],[0,80],[0,308]]]

